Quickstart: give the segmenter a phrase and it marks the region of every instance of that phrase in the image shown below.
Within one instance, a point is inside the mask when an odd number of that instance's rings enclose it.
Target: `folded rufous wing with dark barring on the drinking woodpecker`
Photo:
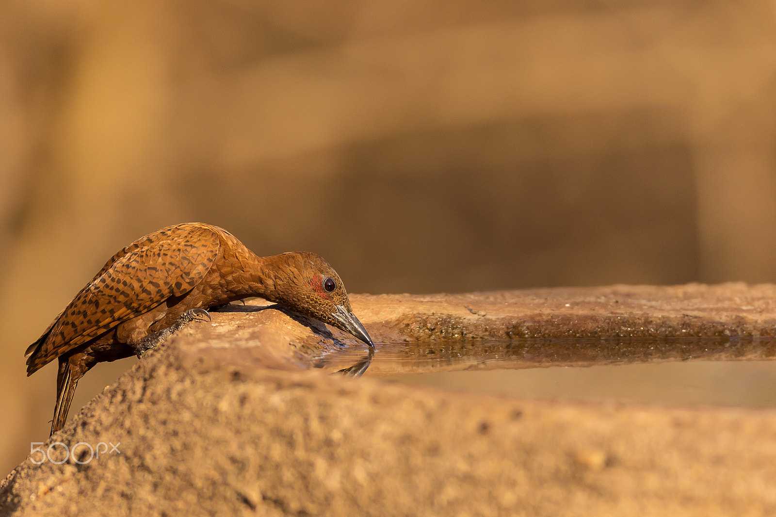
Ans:
[[[28,375],[168,297],[189,292],[213,265],[219,248],[218,234],[210,227],[180,224],[116,253],[29,347]]]

